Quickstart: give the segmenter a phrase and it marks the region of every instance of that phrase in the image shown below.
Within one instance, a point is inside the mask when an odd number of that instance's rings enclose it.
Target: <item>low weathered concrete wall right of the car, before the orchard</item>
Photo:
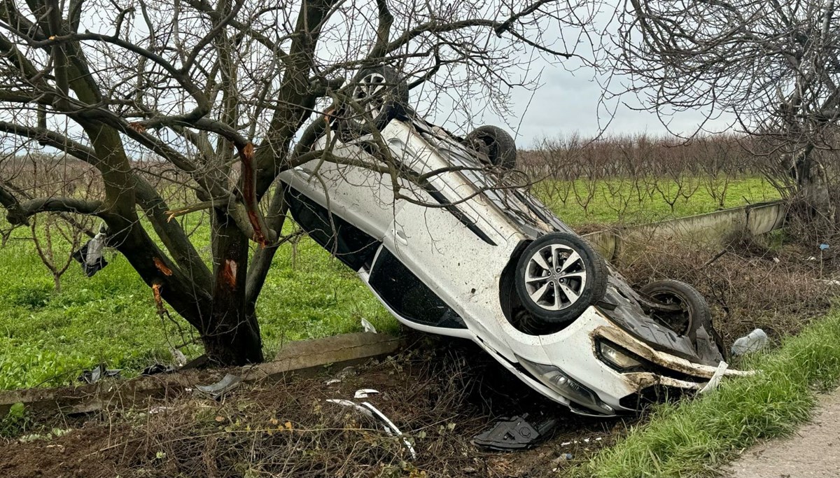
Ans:
[[[782,227],[786,213],[787,207],[784,202],[762,202],[659,223],[613,228],[584,234],[583,237],[606,260],[619,260],[627,254],[631,244],[650,239],[720,244],[722,240],[733,234],[767,234]]]

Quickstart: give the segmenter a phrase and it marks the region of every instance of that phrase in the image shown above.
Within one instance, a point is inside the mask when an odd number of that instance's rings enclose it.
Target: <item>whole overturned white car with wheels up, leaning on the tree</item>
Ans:
[[[315,149],[333,141],[333,161],[312,160],[281,181],[296,222],[397,320],[474,341],[585,415],[633,412],[715,375],[722,347],[701,295],[679,281],[634,291],[505,181],[516,158],[509,135],[482,127],[459,139],[416,118],[390,69],[362,71],[355,83],[355,111],[367,121],[328,118]]]

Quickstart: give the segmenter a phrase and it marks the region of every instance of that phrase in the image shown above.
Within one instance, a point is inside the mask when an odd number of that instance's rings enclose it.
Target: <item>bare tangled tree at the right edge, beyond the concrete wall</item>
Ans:
[[[783,161],[814,218],[835,222],[826,164],[840,119],[840,20],[834,0],[627,0],[615,72],[660,113],[727,113]],[[627,92],[627,91],[624,91]],[[663,116],[668,123],[669,117]]]

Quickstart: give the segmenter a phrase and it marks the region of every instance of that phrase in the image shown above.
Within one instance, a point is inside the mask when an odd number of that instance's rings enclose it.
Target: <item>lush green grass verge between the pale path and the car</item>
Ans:
[[[806,422],[816,391],[840,379],[840,310],[748,360],[756,376],[727,379],[696,400],[657,407],[615,446],[575,470],[576,476],[707,476],[757,439],[790,434]]]

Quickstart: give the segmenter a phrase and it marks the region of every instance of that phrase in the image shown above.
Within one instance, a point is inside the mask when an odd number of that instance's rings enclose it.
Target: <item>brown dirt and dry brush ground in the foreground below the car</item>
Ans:
[[[0,476],[554,476],[611,444],[621,419],[580,418],[539,397],[470,344],[415,346],[394,360],[286,383],[240,387],[222,401],[185,395],[150,408],[39,422],[60,437],[0,445]],[[428,354],[436,355],[429,360]],[[360,388],[417,449],[325,402]],[[356,400],[362,402],[362,400]],[[151,411],[151,412],[150,412]],[[496,418],[530,413],[559,425],[534,449],[499,453],[471,444]]]

